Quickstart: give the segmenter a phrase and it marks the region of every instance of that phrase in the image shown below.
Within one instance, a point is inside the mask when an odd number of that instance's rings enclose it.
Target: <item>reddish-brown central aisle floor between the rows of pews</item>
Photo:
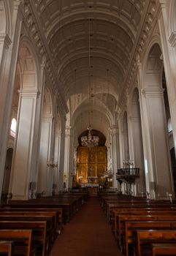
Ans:
[[[88,202],[64,226],[64,233],[53,245],[50,256],[120,256],[110,224],[97,197]]]

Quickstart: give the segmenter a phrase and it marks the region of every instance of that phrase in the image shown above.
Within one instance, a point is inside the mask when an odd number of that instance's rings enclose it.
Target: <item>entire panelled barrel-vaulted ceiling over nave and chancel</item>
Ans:
[[[107,135],[150,0],[31,0],[77,135]],[[90,100],[91,95],[91,100]]]

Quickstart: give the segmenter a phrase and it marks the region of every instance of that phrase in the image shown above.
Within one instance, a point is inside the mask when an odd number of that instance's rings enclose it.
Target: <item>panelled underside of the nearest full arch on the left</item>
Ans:
[[[41,90],[39,58],[28,37],[22,36],[19,48],[20,89]]]

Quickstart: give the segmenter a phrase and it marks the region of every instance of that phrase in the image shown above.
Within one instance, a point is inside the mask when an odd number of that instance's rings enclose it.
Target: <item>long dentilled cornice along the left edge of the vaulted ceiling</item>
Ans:
[[[60,81],[58,80],[58,76],[50,56],[50,50],[47,47],[45,34],[44,31],[42,31],[42,26],[40,25],[39,17],[37,16],[37,12],[34,7],[34,2],[23,0],[23,18],[23,22],[28,28],[28,33],[37,47],[39,56],[42,60],[42,67],[45,67],[45,72],[50,78],[54,94],[57,94],[58,96],[58,105],[62,110],[64,110],[65,113],[67,113],[68,108],[66,105],[66,100],[58,87]]]

